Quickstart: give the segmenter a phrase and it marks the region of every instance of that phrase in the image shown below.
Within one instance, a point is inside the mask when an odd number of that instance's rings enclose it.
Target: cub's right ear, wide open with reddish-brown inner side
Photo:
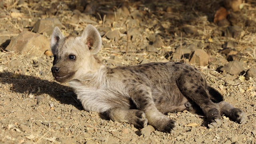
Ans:
[[[81,36],[84,44],[86,44],[92,54],[96,54],[100,51],[101,48],[101,36],[100,33],[94,26],[88,24],[84,29],[84,32]]]

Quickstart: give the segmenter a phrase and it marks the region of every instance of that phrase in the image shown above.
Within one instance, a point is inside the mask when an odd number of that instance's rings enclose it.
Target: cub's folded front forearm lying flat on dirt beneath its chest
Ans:
[[[144,128],[148,124],[145,113],[140,110],[129,110],[121,107],[111,108],[104,112],[111,120],[117,122],[128,122],[138,128]]]

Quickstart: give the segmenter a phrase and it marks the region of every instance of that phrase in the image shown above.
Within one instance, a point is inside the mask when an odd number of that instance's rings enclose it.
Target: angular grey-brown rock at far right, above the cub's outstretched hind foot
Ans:
[[[239,75],[241,72],[245,71],[243,65],[237,60],[229,62],[228,64],[220,68],[220,70],[226,71],[232,75]]]

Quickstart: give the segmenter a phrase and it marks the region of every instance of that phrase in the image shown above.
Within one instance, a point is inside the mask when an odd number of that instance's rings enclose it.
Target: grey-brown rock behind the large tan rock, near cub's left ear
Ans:
[[[40,34],[46,32],[48,36],[50,36],[52,35],[55,26],[58,26],[59,28],[62,27],[61,22],[57,18],[46,18],[38,20],[36,24],[34,24],[33,32],[37,32]]]

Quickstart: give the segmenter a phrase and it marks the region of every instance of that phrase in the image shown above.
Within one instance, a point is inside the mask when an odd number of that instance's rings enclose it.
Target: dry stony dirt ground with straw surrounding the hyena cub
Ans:
[[[213,22],[222,5],[221,0],[0,0],[0,38],[8,36],[0,51],[0,143],[255,144],[256,77],[246,78],[244,72],[256,68],[256,2],[246,0],[241,10],[229,14],[226,25]],[[178,122],[176,134],[142,133],[132,124],[84,111],[68,84],[54,81],[52,56],[5,50],[10,38],[32,31],[44,18],[58,18],[66,36],[77,36],[93,24],[102,35],[98,57],[110,67],[188,63],[185,54],[174,58],[180,45],[203,49],[210,62],[194,66],[225,101],[246,112],[246,124],[222,116],[220,128],[207,129],[204,116],[184,111],[167,115]],[[49,34],[42,34],[50,41]],[[230,52],[244,72],[220,70],[230,61]]]

